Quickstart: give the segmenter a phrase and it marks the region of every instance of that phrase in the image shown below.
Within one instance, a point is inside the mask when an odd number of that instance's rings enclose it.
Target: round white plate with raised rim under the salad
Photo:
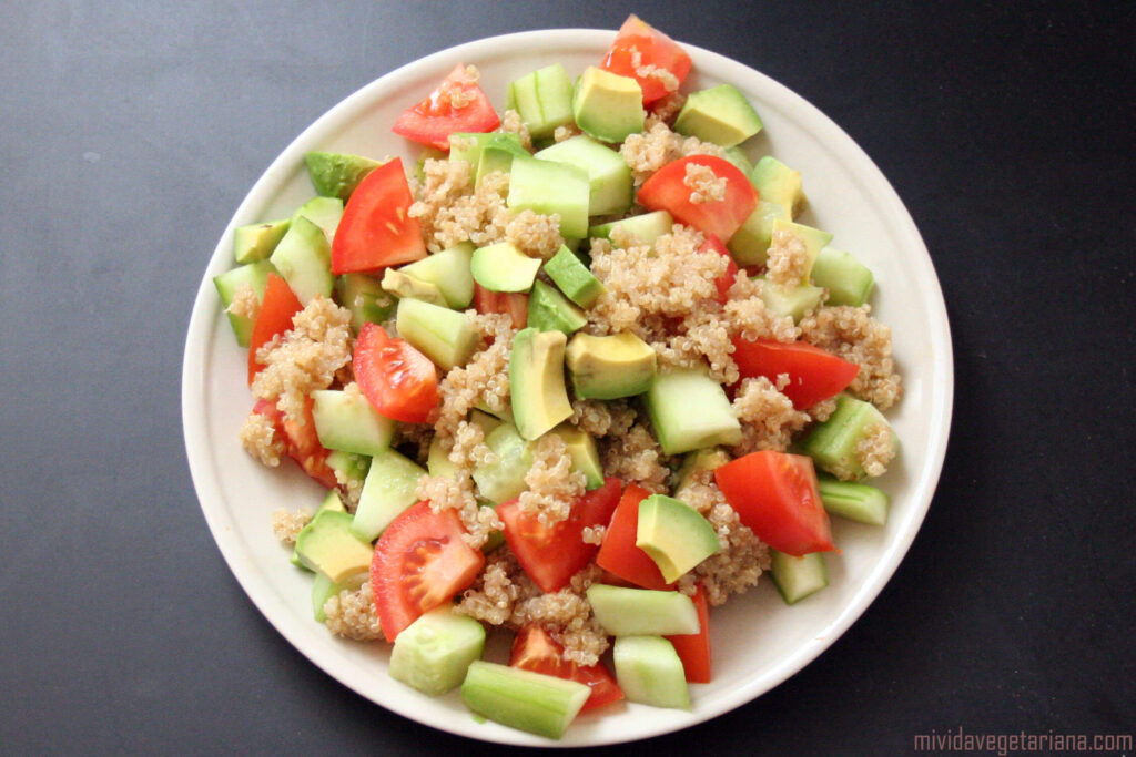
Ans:
[[[249,597],[311,662],[364,697],[420,723],[506,743],[548,740],[477,723],[457,692],[431,699],[386,675],[385,645],[333,638],[311,617],[310,577],[293,569],[272,533],[277,507],[315,508],[321,493],[294,465],[269,471],[244,454],[237,429],[252,401],[245,351],[236,346],[212,277],[233,267],[235,226],[287,216],[312,194],[309,150],[373,157],[417,150],[390,132],[395,117],[425,96],[457,64],[475,64],[498,108],[506,84],[537,67],[570,74],[599,61],[613,32],[560,30],[510,34],[437,52],[362,87],[287,146],[241,203],[222,235],[194,303],[185,345],[182,413],[193,482],[214,538]],[[824,651],[879,594],[914,538],[938,480],[951,421],[953,368],[946,310],[927,249],[894,190],[860,148],[799,95],[746,66],[684,45],[694,72],[684,89],[728,82],[754,104],[766,129],[746,145],[799,169],[811,208],[803,221],[835,234],[876,275],[875,313],[893,327],[905,396],[888,413],[902,440],[899,463],[880,480],[892,496],[885,528],[835,522],[841,555],[828,555],[832,584],[794,607],[768,580],[713,613],[715,680],[693,685],[693,712],[618,705],[580,716],[560,746],[629,741],[676,731],[743,705]],[[500,651],[500,650],[499,650]],[[289,685],[285,679],[279,685]]]

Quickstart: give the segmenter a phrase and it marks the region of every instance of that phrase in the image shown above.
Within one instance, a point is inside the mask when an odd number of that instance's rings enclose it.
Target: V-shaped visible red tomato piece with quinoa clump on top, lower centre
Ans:
[[[551,528],[523,512],[516,499],[498,505],[496,513],[504,523],[504,540],[541,591],[559,591],[592,562],[599,546],[584,541],[584,528],[607,525],[619,504],[621,490],[619,479],[604,479],[603,486],[585,493],[573,504],[568,520]]]

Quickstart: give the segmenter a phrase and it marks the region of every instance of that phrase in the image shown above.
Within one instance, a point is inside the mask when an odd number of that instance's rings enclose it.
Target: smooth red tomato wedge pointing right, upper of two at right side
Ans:
[[[780,392],[797,410],[835,397],[860,372],[855,363],[807,342],[750,342],[740,336],[734,337],[734,362],[742,378],[765,376],[776,384],[778,376],[788,375],[788,385]]]

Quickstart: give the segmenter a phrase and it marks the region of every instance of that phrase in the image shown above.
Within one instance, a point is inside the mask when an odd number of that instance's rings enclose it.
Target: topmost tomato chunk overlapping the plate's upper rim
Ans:
[[[649,106],[678,89],[691,73],[691,57],[677,42],[632,14],[619,27],[600,68],[637,81],[643,89],[643,104]],[[658,69],[670,76],[650,75]]]

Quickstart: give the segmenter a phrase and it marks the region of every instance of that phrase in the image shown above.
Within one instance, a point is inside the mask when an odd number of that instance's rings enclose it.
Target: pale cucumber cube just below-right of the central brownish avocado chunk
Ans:
[[[654,377],[645,404],[659,446],[668,455],[742,441],[726,390],[699,368],[673,369]]]

